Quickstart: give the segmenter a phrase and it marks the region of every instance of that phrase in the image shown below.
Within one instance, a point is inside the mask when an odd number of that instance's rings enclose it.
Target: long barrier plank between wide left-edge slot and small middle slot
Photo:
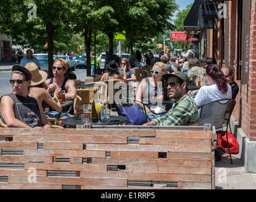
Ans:
[[[98,157],[105,158],[105,151],[87,150],[24,150],[24,155],[29,156],[54,156],[54,157]]]

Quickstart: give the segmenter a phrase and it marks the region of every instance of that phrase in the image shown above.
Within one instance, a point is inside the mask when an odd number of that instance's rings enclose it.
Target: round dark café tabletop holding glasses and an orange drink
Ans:
[[[91,125],[115,125],[122,124],[127,119],[123,116],[110,116],[108,119],[101,119],[101,123],[99,122],[82,122],[80,117],[69,117],[67,119],[63,119],[62,123],[69,126],[77,126],[84,125],[86,123],[90,123]]]

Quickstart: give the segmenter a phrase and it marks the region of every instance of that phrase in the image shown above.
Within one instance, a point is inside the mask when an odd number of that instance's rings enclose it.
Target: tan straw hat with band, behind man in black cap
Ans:
[[[25,68],[29,69],[32,74],[31,85],[36,86],[43,83],[47,78],[47,73],[45,71],[39,70],[34,62],[29,62],[26,64]]]

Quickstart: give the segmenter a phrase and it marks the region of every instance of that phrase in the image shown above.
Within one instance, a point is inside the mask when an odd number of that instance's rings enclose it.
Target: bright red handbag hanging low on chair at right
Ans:
[[[234,138],[234,134],[230,131],[227,131],[227,136],[225,132],[217,134],[218,146],[224,148],[226,153],[229,153],[227,147],[227,140],[229,141],[229,150],[230,153],[238,153],[239,152],[239,144],[236,138]]]

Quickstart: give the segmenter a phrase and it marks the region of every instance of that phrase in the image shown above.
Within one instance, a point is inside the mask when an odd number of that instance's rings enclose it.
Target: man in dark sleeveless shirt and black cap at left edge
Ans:
[[[29,69],[13,66],[10,80],[12,93],[1,97],[1,119],[8,128],[51,128],[42,105],[28,96],[31,79]]]

